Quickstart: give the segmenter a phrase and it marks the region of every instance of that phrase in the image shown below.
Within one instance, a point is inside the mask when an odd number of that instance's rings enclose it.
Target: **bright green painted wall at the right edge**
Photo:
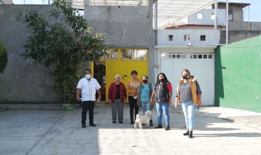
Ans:
[[[215,105],[261,112],[261,36],[216,50]]]

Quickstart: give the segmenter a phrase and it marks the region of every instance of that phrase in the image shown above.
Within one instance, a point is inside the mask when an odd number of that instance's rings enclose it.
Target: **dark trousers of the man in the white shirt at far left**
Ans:
[[[87,101],[82,102],[82,124],[86,125],[87,111],[89,110],[89,124],[93,124],[93,109],[95,102]]]

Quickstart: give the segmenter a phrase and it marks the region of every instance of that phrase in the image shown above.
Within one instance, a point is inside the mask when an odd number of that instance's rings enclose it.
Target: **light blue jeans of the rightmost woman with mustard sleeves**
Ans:
[[[182,110],[185,116],[185,126],[190,131],[194,130],[195,107],[196,106],[193,105],[193,101],[182,102]]]

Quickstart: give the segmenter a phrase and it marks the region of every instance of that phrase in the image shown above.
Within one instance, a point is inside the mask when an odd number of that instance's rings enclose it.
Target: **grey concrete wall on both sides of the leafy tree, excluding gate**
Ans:
[[[8,51],[8,66],[0,74],[0,103],[63,102],[55,97],[50,69],[29,63],[19,55],[30,31],[15,19],[19,8],[47,14],[52,5],[0,5],[0,37]],[[149,76],[155,81],[155,31],[152,29],[152,4],[147,6],[89,6],[84,16],[93,32],[105,33],[109,47],[149,49]]]

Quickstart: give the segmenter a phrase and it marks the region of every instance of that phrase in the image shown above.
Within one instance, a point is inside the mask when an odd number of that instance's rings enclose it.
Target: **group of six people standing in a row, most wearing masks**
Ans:
[[[91,78],[91,70],[84,71],[85,78],[78,82],[76,99],[80,101],[82,96],[82,128],[86,128],[87,111],[89,110],[89,126],[96,126],[93,123],[93,108],[95,104],[95,93],[98,93],[98,99],[101,99],[100,84],[94,78]],[[157,108],[157,126],[155,128],[163,128],[162,115],[165,117],[166,128],[170,130],[170,115],[169,108],[172,105],[172,84],[164,73],[157,75],[157,82],[155,86],[148,82],[148,76],[143,75],[141,80],[137,78],[137,71],[131,72],[131,80],[125,86],[121,80],[120,75],[115,75],[115,82],[109,86],[108,99],[111,104],[111,113],[113,123],[118,119],[119,123],[123,123],[124,102],[127,99],[130,104],[130,118],[131,124],[134,124],[136,115],[139,113],[139,107],[142,108],[143,113],[152,110],[156,105]],[[177,86],[177,93],[175,99],[175,108],[179,108],[179,103],[182,105],[186,132],[192,138],[194,130],[194,112],[196,104],[202,107],[201,102],[201,88],[194,76],[190,75],[188,69],[181,71],[181,80]],[[150,126],[153,126],[152,118],[150,118]]]

